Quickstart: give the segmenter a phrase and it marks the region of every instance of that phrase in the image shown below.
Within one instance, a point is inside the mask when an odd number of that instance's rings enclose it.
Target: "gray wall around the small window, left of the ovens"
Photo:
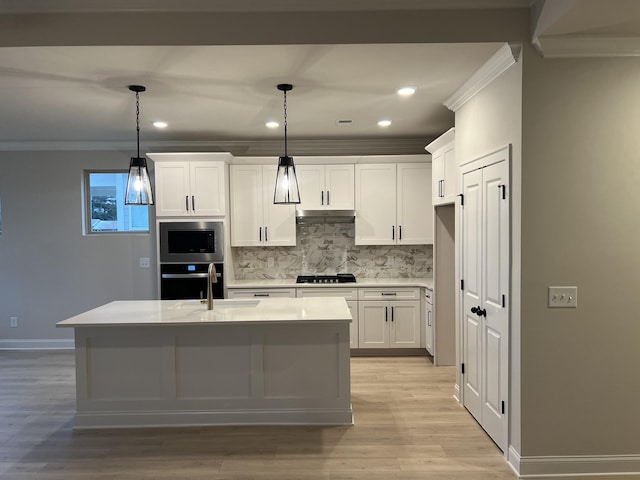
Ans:
[[[56,322],[112,300],[155,296],[152,235],[83,235],[83,170],[126,171],[130,156],[0,152],[0,346],[73,338]],[[151,268],[141,269],[140,257]],[[11,316],[18,328],[9,328]]]

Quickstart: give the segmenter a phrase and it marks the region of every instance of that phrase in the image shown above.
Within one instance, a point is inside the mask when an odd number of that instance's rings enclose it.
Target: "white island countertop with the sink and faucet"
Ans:
[[[58,327],[203,325],[351,321],[344,298],[266,298],[111,302],[57,323]]]

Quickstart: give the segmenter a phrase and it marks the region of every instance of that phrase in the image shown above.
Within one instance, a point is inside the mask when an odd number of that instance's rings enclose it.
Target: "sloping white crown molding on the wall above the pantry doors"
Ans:
[[[518,61],[520,46],[505,43],[487,62],[480,67],[443,105],[457,111],[475,97],[484,87],[493,82]]]

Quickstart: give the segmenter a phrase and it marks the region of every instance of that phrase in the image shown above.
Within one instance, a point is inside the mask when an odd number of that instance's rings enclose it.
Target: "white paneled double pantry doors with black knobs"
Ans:
[[[509,367],[508,148],[462,175],[463,403],[504,451]]]

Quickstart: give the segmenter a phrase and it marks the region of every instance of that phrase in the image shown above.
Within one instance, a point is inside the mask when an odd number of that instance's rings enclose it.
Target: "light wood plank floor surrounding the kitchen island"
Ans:
[[[516,478],[453,383],[427,357],[357,357],[351,427],[74,431],[73,352],[0,351],[0,478]]]

